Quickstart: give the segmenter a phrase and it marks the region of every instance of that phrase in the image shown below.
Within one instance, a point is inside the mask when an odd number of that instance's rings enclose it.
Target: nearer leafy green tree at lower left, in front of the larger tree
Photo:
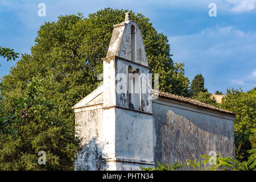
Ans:
[[[63,121],[54,100],[44,96],[46,80],[32,79],[24,94],[13,99],[5,131],[0,132],[0,170],[71,170],[79,151],[72,122]],[[38,152],[46,152],[46,165],[38,164]]]

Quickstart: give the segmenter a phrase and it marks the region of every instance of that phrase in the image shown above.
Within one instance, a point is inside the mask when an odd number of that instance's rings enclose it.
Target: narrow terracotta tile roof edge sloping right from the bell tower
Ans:
[[[231,111],[220,109],[218,107],[214,107],[212,105],[205,104],[203,102],[197,101],[197,100],[192,99],[192,98],[183,97],[183,96],[177,96],[175,94],[171,94],[171,93],[167,93],[167,92],[161,92],[161,91],[158,91],[158,90],[152,90],[152,94],[153,95],[154,94],[159,94],[158,97],[160,97],[160,98],[166,98],[168,100],[174,100],[174,101],[177,101],[177,102],[183,102],[185,104],[190,104],[190,105],[201,107],[201,108],[204,108],[204,109],[218,111],[220,113],[236,115],[235,113],[233,113]]]

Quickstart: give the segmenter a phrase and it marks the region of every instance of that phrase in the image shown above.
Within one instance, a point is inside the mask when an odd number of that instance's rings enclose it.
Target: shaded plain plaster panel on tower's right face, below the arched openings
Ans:
[[[115,156],[154,161],[152,115],[115,109]]]

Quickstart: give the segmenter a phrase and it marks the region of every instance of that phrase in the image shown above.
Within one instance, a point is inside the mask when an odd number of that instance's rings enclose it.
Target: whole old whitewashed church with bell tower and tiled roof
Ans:
[[[126,13],[103,60],[103,84],[72,108],[79,170],[141,170],[215,151],[234,158],[235,114],[151,89],[142,32]]]

